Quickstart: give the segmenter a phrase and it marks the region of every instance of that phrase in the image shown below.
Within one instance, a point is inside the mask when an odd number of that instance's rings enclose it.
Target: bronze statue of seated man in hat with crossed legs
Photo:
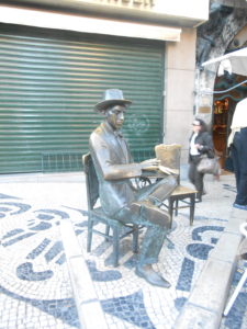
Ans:
[[[109,89],[96,110],[104,115],[104,121],[94,129],[89,139],[89,149],[99,180],[100,202],[104,213],[124,223],[145,226],[136,274],[153,285],[169,287],[170,284],[151,264],[158,261],[170,217],[159,207],[177,185],[177,180],[168,175],[143,189],[136,189],[132,179],[138,178],[147,168],[158,169],[159,161],[149,159],[133,162],[126,140],[120,129],[124,115],[132,102],[125,100],[119,89]]]

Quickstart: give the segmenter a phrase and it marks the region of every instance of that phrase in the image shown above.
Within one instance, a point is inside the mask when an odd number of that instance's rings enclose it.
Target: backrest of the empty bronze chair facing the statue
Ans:
[[[156,158],[161,164],[171,169],[177,169],[180,174],[181,145],[179,144],[159,144],[155,146]],[[179,183],[178,175],[178,183]]]

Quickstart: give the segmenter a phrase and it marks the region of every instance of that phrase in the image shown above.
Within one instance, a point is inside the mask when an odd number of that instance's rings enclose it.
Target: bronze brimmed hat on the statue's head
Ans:
[[[96,104],[94,109],[98,111],[104,111],[110,105],[130,105],[132,101],[125,100],[123,91],[120,89],[108,89],[104,91],[103,101]]]

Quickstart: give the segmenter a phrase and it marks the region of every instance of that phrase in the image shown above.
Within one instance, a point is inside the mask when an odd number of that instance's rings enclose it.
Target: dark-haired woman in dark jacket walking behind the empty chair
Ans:
[[[203,120],[195,118],[193,121],[192,134],[189,141],[189,180],[198,191],[195,201],[201,202],[202,195],[205,194],[203,183],[204,173],[198,171],[198,164],[202,155],[214,158],[213,139]]]

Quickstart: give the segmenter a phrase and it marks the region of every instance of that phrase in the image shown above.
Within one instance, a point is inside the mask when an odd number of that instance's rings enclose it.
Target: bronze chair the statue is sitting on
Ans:
[[[113,265],[119,265],[119,249],[120,240],[128,235],[133,235],[132,249],[133,252],[138,252],[138,225],[123,224],[120,220],[108,217],[102,207],[97,205],[99,200],[99,181],[90,154],[82,156],[82,163],[86,174],[86,188],[88,198],[88,238],[87,251],[91,251],[92,235],[97,234],[105,238],[106,241],[113,243]],[[104,224],[105,231],[101,231],[94,226]],[[112,234],[111,234],[112,231]]]

